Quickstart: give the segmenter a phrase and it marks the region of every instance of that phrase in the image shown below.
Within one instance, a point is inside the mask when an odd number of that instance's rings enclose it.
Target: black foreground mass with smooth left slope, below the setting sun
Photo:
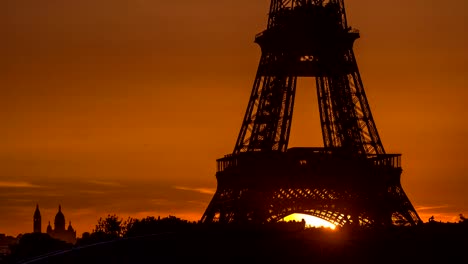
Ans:
[[[202,225],[76,247],[19,263],[468,263],[466,248],[466,224],[338,231]]]

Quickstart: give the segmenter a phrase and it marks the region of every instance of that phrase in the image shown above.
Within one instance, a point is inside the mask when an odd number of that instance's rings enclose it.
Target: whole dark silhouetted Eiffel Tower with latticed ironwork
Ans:
[[[265,224],[301,213],[337,226],[422,221],[387,154],[353,51],[344,0],[272,0],[247,111],[232,154],[217,160],[203,223]],[[298,77],[314,77],[322,148],[288,141]]]

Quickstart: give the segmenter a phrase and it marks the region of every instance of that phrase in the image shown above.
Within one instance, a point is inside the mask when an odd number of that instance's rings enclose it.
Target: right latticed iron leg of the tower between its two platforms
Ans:
[[[354,71],[316,79],[324,145],[352,153],[385,154],[352,50],[345,59]]]

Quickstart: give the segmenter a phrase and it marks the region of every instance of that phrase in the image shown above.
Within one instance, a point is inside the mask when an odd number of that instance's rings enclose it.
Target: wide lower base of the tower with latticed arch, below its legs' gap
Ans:
[[[416,225],[399,158],[318,148],[231,155],[218,161],[218,188],[202,222],[264,224],[304,213],[339,226]]]

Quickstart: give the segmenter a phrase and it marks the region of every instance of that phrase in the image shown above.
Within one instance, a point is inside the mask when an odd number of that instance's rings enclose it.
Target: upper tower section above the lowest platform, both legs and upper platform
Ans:
[[[343,26],[343,2],[272,1],[271,12],[274,24],[256,38],[262,58],[233,153],[286,151],[297,78],[313,76],[324,146],[354,154],[385,154],[352,51],[359,35]],[[338,15],[331,19],[321,18],[334,13]],[[289,22],[296,15],[317,25]]]

